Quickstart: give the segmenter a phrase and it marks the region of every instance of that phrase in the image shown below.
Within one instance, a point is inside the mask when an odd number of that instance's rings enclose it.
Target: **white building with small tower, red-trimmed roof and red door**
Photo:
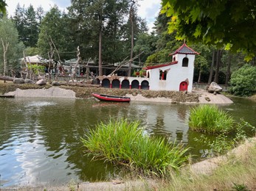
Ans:
[[[149,89],[191,92],[196,54],[199,53],[184,43],[173,54],[170,54],[172,62],[145,68]]]

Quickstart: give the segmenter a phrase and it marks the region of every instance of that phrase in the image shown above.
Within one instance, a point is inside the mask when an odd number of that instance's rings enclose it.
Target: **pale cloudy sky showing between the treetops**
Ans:
[[[9,15],[14,14],[18,3],[21,5],[21,7],[24,5],[25,8],[32,4],[35,10],[41,6],[45,12],[55,4],[60,10],[65,10],[66,7],[69,7],[71,4],[70,0],[6,0],[6,3],[8,5],[7,12]],[[161,0],[139,0],[138,15],[147,21],[150,31],[152,30],[153,22],[155,21],[156,16],[159,14],[160,7]]]

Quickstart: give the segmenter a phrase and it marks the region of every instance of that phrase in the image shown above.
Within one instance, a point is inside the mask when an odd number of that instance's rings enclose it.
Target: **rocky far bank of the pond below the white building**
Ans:
[[[171,104],[232,104],[225,95],[208,93],[206,90],[193,90],[192,93],[175,91],[126,90],[108,89],[103,87],[76,87],[52,85],[38,86],[36,84],[8,84],[9,88],[0,86],[4,95],[15,97],[41,98],[91,98],[91,93],[120,95],[131,97],[131,101],[165,102]]]

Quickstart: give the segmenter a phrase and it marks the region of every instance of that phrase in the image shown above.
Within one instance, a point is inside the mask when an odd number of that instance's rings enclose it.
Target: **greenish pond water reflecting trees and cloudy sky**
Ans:
[[[256,126],[256,102],[235,98],[221,106],[236,119]],[[141,120],[148,134],[187,143],[200,157],[200,134],[187,126],[184,104],[111,104],[94,99],[0,98],[0,188],[13,185],[66,184],[71,179],[100,181],[115,175],[114,167],[84,156],[83,137],[109,116]]]

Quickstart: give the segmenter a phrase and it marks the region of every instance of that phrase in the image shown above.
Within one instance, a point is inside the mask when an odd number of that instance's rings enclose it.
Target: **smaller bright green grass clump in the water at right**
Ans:
[[[215,105],[201,105],[190,109],[190,129],[208,134],[232,131],[234,119]]]

